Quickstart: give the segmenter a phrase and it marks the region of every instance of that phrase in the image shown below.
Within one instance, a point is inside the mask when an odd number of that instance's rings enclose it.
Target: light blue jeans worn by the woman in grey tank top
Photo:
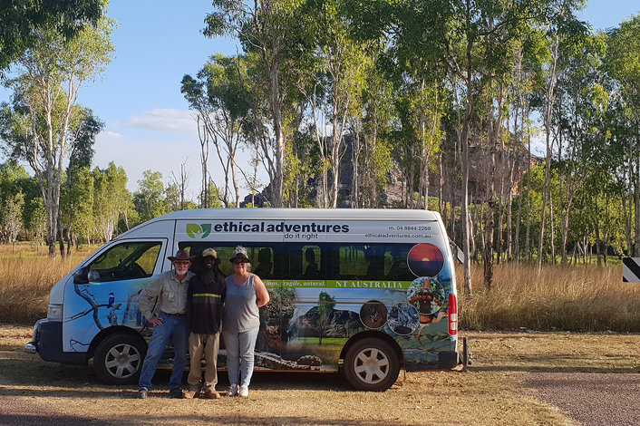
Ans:
[[[256,347],[259,328],[244,333],[225,333],[225,348],[227,348],[227,374],[229,384],[248,386],[251,382],[254,364],[254,348]]]

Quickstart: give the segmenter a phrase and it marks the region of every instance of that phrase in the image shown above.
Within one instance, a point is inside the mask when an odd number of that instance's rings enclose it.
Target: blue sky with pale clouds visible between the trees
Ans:
[[[108,15],[118,22],[112,35],[115,57],[100,80],[85,84],[79,102],[106,124],[93,164],[105,168],[115,161],[127,171],[131,190],[146,169],[162,172],[168,181],[186,163],[188,196],[198,195],[199,139],[180,81],[185,73],[198,73],[211,54],[236,53],[232,40],[201,34],[211,10],[211,2],[201,0],[112,0]],[[638,0],[590,0],[580,16],[595,29],[606,29],[638,13]],[[9,95],[0,89],[0,102]],[[238,162],[246,164],[247,155]],[[222,181],[213,149],[209,169]]]

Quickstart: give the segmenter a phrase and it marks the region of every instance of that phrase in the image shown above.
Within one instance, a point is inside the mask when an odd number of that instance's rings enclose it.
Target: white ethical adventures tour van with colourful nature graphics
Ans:
[[[467,364],[441,217],[406,209],[202,208],[153,218],[53,286],[25,350],[55,363],[93,359],[103,382],[137,382],[152,333],[138,308],[141,289],[180,249],[199,256],[213,247],[231,275],[237,246],[271,296],[260,312],[256,370],[342,372],[356,389],[384,391],[401,369]],[[172,358],[168,347],[162,363]],[[222,343],[218,367],[225,364]]]

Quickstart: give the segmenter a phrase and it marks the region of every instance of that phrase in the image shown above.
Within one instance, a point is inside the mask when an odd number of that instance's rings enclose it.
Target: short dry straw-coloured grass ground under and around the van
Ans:
[[[640,373],[640,335],[468,333],[474,364],[464,372],[401,373],[387,392],[354,392],[335,374],[256,373],[249,399],[170,400],[160,372],[146,401],[96,384],[90,367],[25,356],[31,329],[0,324],[0,398],[42,412],[112,424],[572,425],[556,407],[523,387],[520,373]],[[219,388],[227,385],[221,373]]]

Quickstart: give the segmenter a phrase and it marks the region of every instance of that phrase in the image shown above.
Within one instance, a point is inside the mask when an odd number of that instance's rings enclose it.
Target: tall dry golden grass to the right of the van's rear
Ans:
[[[462,293],[461,268],[457,271]],[[640,332],[640,284],[622,282],[622,266],[501,265],[490,291],[482,268],[471,276],[473,297],[461,304],[461,328]]]

